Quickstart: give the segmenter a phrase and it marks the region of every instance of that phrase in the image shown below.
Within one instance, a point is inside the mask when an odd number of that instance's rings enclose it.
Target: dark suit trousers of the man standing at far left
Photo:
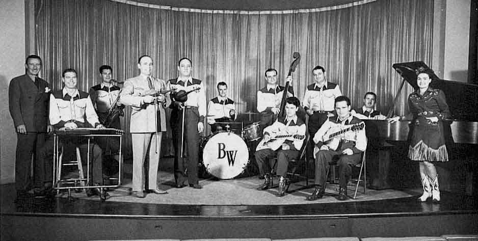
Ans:
[[[34,186],[43,188],[44,172],[43,159],[39,158],[39,151],[45,144],[46,133],[27,132],[17,133],[17,148],[15,153],[15,188],[17,191],[28,191],[32,188],[30,180],[32,155],[34,156]]]

